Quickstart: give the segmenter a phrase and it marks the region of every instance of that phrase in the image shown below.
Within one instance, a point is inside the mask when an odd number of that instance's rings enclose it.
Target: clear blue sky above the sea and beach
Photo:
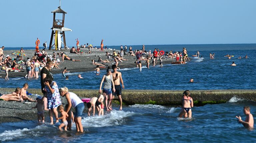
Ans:
[[[3,0],[0,45],[49,45],[59,0]],[[255,0],[62,0],[68,46],[256,43]]]

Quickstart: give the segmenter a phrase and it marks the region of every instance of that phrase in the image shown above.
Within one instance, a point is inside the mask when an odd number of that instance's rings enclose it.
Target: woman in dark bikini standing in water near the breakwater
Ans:
[[[179,117],[182,118],[191,118],[192,116],[192,111],[191,108],[193,107],[193,99],[190,96],[189,90],[186,90],[183,92],[182,96],[182,109],[180,111]]]

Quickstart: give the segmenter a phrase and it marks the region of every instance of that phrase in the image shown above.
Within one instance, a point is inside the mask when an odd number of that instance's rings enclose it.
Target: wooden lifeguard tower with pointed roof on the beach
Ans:
[[[58,9],[52,11],[53,13],[53,24],[52,24],[52,34],[51,34],[51,39],[50,39],[50,45],[49,45],[49,50],[51,50],[52,46],[55,46],[54,49],[60,49],[61,43],[64,44],[64,49],[67,49],[66,46],[66,38],[65,38],[65,31],[72,31],[69,28],[64,27],[64,20],[65,20],[65,14],[67,14],[64,10],[58,7]],[[55,19],[56,13],[62,14],[62,19]],[[55,36],[54,44],[52,44],[53,36]],[[61,41],[61,38],[63,38],[63,42]],[[58,47],[58,48],[57,48]]]

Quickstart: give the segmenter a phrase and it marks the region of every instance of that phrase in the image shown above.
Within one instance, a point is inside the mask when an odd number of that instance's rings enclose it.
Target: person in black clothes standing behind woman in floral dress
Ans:
[[[44,98],[44,110],[48,110],[47,109],[47,94],[46,91],[44,90],[44,79],[46,77],[50,78],[53,81],[53,76],[52,76],[52,72],[51,72],[51,66],[53,65],[52,61],[47,61],[46,66],[43,67],[43,69],[40,72],[40,81],[41,81],[41,91],[44,94],[43,98]]]

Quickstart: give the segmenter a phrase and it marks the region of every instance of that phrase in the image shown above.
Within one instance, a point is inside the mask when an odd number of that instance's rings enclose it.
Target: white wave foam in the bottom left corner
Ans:
[[[0,141],[43,136],[47,131],[56,132],[57,130],[58,128],[53,125],[40,125],[32,129],[23,128],[6,130],[3,133],[0,133]]]

